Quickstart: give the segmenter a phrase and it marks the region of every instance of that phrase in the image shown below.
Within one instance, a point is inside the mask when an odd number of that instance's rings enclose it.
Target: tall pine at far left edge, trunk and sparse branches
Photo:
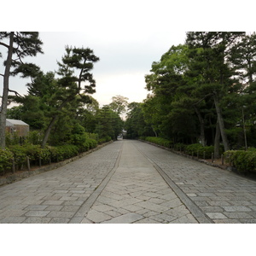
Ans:
[[[7,42],[6,42],[7,41]],[[9,92],[15,92],[9,88],[10,75],[23,73],[23,77],[37,72],[38,67],[33,64],[24,63],[26,56],[35,56],[43,53],[42,41],[38,38],[38,32],[0,32],[0,46],[8,50],[6,61],[4,61],[3,96],[0,112],[0,148],[5,148],[5,125],[8,106]],[[14,67],[14,70],[11,70]],[[17,92],[15,92],[17,94]]]

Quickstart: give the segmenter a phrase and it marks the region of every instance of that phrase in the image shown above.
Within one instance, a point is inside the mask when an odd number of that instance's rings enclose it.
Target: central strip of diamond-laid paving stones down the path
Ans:
[[[124,141],[119,166],[81,223],[167,224],[198,221],[148,159]]]

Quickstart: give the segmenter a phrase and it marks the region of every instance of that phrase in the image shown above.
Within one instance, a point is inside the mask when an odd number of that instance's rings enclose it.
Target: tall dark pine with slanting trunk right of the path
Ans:
[[[218,125],[224,143],[224,150],[230,149],[225,132],[223,109],[220,102],[232,84],[233,75],[229,67],[231,49],[236,46],[238,39],[244,36],[244,32],[188,32],[186,43],[190,49],[194,49],[194,56],[189,62],[190,70],[201,77],[201,90],[205,96],[211,95],[218,115]],[[201,64],[198,64],[201,61]],[[201,67],[200,67],[201,66]],[[198,69],[200,67],[200,69]]]

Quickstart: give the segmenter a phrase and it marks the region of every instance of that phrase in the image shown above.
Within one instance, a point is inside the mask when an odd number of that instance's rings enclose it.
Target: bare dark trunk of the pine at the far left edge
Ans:
[[[15,32],[10,32],[9,36],[9,49],[6,60],[5,71],[3,75],[3,96],[2,105],[0,109],[0,148],[5,148],[5,127],[6,127],[6,113],[8,105],[8,94],[9,94],[9,73],[12,63],[13,56],[13,45],[14,45]]]

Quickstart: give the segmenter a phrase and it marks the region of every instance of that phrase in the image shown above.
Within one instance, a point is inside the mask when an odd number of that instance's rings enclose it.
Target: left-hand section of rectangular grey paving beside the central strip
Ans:
[[[120,149],[121,143],[111,143],[66,166],[0,187],[0,223],[69,223],[113,169]]]

